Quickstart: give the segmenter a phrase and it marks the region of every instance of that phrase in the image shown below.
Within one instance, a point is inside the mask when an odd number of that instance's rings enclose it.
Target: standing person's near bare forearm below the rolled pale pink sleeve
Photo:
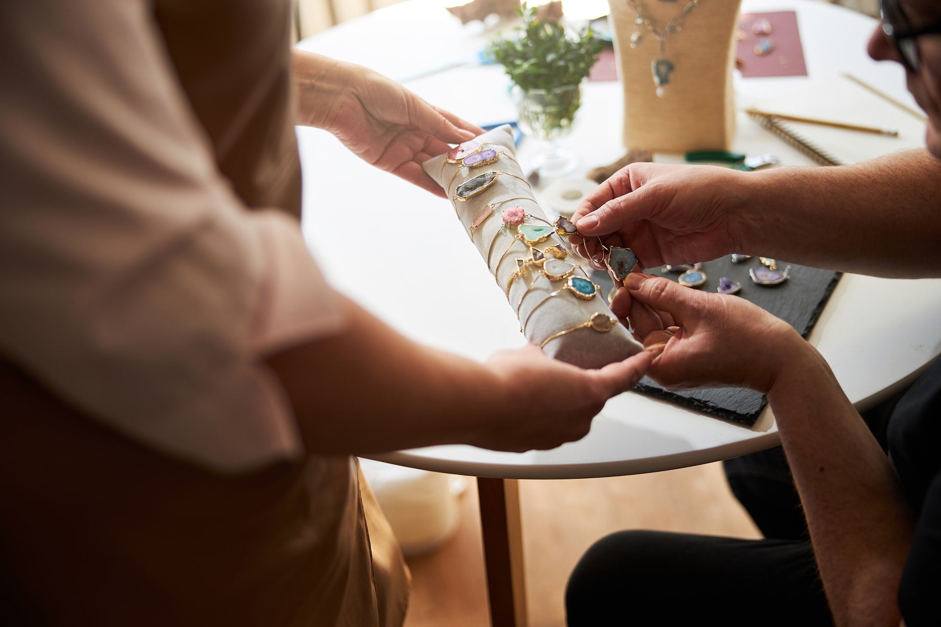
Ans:
[[[471,444],[502,411],[502,382],[484,365],[393,332],[352,302],[336,337],[270,357],[305,447],[320,454]]]

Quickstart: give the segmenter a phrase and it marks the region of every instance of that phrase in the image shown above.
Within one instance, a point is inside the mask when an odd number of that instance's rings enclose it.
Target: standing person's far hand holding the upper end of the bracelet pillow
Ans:
[[[424,102],[404,86],[362,66],[295,50],[300,123],[333,133],[368,164],[437,196],[422,169],[432,157],[484,131]]]

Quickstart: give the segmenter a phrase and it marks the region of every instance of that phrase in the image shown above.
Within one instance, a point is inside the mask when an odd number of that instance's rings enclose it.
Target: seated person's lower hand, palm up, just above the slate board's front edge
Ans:
[[[647,373],[669,389],[710,385],[769,391],[786,368],[801,368],[816,351],[787,322],[737,296],[685,288],[633,273],[618,290],[614,315],[655,358]]]

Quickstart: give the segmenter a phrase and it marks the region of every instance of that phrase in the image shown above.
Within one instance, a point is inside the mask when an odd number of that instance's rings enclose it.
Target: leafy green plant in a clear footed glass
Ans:
[[[553,174],[546,170],[574,166],[550,163],[565,159],[554,142],[571,130],[582,104],[582,81],[604,42],[591,28],[567,31],[558,21],[540,17],[536,7],[524,4],[519,15],[523,24],[510,37],[494,39],[487,54],[502,64],[514,85],[520,130],[549,144],[539,169]]]

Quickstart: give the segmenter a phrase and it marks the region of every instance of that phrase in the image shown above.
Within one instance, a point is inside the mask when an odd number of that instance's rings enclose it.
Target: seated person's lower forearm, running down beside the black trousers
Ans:
[[[898,625],[913,514],[885,453],[816,352],[768,398],[838,625]]]

